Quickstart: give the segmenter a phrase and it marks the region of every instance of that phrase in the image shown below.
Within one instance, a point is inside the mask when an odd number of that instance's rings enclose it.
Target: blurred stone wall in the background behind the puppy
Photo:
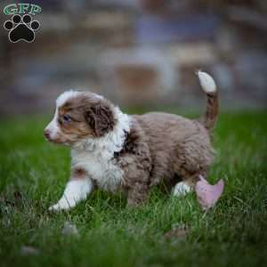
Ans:
[[[34,43],[12,44],[0,29],[2,116],[47,112],[69,88],[127,107],[198,106],[198,69],[214,75],[225,107],[266,105],[266,1],[34,3]]]

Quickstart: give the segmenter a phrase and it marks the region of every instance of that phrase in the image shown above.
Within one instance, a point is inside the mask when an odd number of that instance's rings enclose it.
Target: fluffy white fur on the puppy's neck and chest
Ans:
[[[72,167],[82,167],[103,190],[117,190],[123,179],[123,169],[114,163],[114,152],[120,151],[129,133],[131,119],[117,107],[117,125],[113,131],[98,139],[83,140],[71,150]]]

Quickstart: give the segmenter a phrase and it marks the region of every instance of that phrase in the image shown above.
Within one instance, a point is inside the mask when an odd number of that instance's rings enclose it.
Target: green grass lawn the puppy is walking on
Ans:
[[[223,114],[214,131],[211,182],[223,197],[207,214],[194,194],[177,199],[155,189],[146,205],[96,191],[69,212],[51,214],[69,175],[69,150],[44,141],[48,119],[0,122],[1,266],[266,266],[267,112]],[[64,222],[79,237],[61,233]],[[166,239],[185,224],[185,239]],[[21,255],[21,247],[39,249]]]

